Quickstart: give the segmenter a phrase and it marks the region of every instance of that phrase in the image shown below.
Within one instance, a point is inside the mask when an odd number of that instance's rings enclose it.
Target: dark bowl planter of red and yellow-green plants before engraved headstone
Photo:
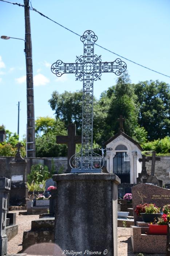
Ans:
[[[161,208],[157,207],[155,204],[139,204],[135,212],[140,216],[144,222],[152,222],[154,219],[158,220],[158,217],[161,217],[160,213]]]

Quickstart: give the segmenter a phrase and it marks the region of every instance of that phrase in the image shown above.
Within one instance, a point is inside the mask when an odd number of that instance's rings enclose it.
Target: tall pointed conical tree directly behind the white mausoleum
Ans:
[[[119,131],[119,122],[117,119],[120,115],[126,119],[123,124],[124,132],[129,136],[133,136],[134,129],[138,125],[138,106],[135,103],[137,97],[127,72],[120,76],[116,81],[116,85],[110,87],[105,94],[104,97],[107,96],[110,98],[106,118],[105,140]]]

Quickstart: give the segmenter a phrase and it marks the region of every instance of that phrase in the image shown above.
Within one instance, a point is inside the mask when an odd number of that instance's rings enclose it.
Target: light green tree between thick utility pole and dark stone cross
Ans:
[[[35,121],[36,157],[65,157],[67,145],[56,144],[57,135],[67,135],[63,121],[38,117]]]

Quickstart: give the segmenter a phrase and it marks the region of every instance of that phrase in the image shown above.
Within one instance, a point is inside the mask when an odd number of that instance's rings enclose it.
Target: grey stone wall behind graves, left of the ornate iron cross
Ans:
[[[35,164],[47,165],[48,169],[51,170],[52,159],[56,171],[61,166],[64,167],[64,172],[67,170],[67,157],[54,157],[54,158],[24,158],[27,160],[27,174],[31,171],[31,166]],[[11,165],[10,162],[14,161],[14,157],[0,157],[0,177],[11,178]]]

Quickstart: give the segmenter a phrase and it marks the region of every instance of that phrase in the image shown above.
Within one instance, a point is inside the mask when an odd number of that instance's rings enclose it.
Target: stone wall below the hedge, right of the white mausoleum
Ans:
[[[146,170],[151,174],[151,161],[146,162]],[[155,162],[155,175],[158,179],[163,180],[164,184],[170,184],[170,156],[161,157],[161,161]]]

